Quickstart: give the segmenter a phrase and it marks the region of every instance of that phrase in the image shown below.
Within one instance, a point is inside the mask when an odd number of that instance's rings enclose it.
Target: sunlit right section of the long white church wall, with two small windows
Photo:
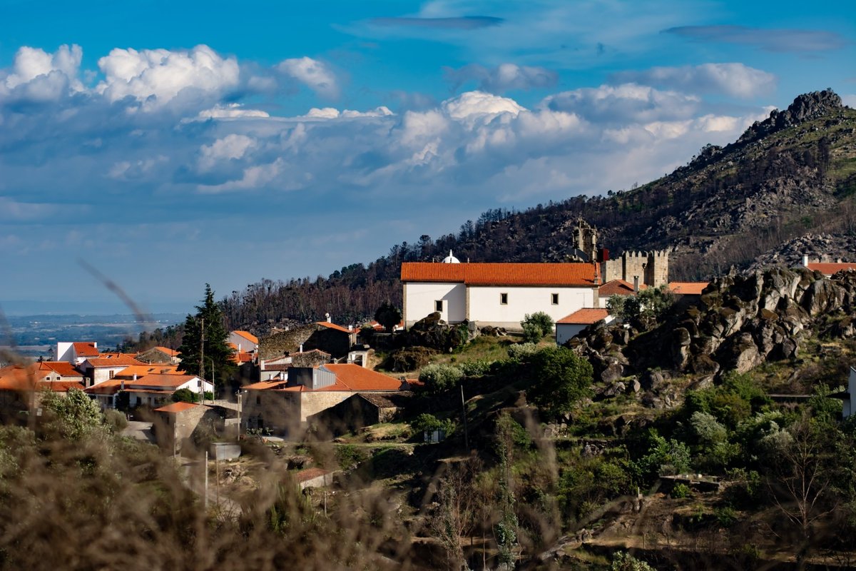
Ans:
[[[407,288],[411,284],[407,284]],[[508,294],[508,303],[501,303],[500,294]],[[559,294],[559,303],[552,304],[552,294]],[[593,306],[593,288],[509,287],[490,286],[469,288],[469,320],[479,325],[494,325],[520,329],[526,314],[544,312],[554,321],[583,307]]]

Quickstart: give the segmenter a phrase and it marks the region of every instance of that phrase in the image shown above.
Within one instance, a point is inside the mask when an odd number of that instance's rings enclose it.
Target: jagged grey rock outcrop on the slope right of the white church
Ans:
[[[636,375],[643,390],[657,394],[675,375],[708,384],[726,372],[793,359],[811,332],[853,336],[854,319],[856,271],[826,278],[805,268],[772,268],[719,278],[698,305],[673,308],[645,335],[602,324],[568,346],[590,360],[597,381],[613,387],[607,392],[616,394],[619,378]]]

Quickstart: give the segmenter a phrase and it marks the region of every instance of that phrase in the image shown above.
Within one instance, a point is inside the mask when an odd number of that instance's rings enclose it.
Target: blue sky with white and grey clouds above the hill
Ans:
[[[0,2],[0,300],[154,311],[630,187],[832,87],[853,3]],[[175,305],[172,305],[173,307]]]

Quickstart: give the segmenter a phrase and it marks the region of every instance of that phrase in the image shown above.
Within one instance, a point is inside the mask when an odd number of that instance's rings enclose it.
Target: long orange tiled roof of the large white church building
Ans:
[[[402,282],[467,285],[591,287],[594,265],[576,264],[437,264],[404,262]]]

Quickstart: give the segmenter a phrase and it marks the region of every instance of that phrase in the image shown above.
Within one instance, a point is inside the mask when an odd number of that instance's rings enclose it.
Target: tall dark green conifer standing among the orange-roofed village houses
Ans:
[[[229,347],[229,332],[223,324],[223,309],[214,300],[211,285],[205,284],[205,300],[196,306],[196,315],[187,314],[184,336],[178,348],[179,370],[213,380],[217,387],[235,375],[235,350]],[[200,356],[202,371],[200,374]],[[213,370],[213,372],[212,372]]]

